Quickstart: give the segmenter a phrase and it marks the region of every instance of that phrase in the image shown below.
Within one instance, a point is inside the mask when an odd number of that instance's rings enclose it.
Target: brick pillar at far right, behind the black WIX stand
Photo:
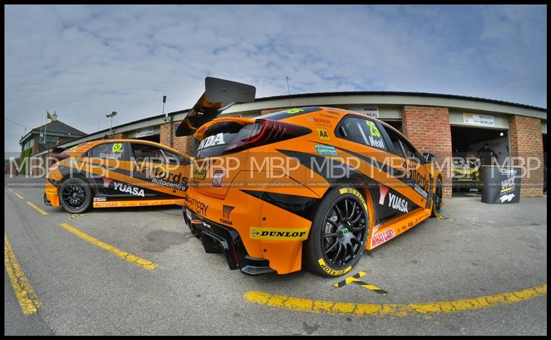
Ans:
[[[524,165],[521,179],[521,198],[537,197],[543,193],[543,136],[541,134],[541,120],[524,116],[509,117],[509,142],[511,157],[530,160],[529,164],[522,164],[523,160],[516,160],[514,165]],[[537,158],[541,166],[537,167]],[[532,168],[530,171],[528,167]],[[534,169],[537,168],[537,169]]]

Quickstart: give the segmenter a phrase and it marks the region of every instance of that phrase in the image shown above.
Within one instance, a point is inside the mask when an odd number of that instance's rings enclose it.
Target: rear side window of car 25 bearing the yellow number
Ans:
[[[370,119],[346,117],[339,124],[337,135],[368,147],[387,150],[380,129]]]

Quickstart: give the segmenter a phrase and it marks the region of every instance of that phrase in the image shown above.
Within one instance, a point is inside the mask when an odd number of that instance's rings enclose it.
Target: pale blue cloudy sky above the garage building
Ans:
[[[455,94],[547,107],[545,6],[5,6],[4,151],[46,111],[87,134],[188,109],[205,77],[256,97]],[[15,122],[15,123],[12,123]],[[17,123],[17,124],[16,124]],[[23,126],[27,127],[25,128]]]

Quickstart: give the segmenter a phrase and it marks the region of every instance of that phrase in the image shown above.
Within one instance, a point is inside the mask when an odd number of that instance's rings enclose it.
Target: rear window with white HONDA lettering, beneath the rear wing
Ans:
[[[247,125],[245,125],[247,127]],[[201,140],[195,154],[196,158],[216,157],[222,155],[228,145],[236,140],[243,125],[235,122],[220,122],[209,128]],[[241,134],[239,134],[241,136]]]

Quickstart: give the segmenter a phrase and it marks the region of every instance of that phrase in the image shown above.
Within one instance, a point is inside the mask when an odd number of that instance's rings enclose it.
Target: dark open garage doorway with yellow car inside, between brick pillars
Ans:
[[[480,165],[485,162],[484,145],[488,144],[499,164],[510,156],[507,129],[452,126],[453,197],[481,194]],[[486,162],[490,162],[486,157]]]

